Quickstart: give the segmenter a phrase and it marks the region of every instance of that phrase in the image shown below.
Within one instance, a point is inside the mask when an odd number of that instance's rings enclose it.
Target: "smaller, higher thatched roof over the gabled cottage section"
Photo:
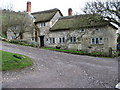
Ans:
[[[40,12],[35,12],[35,13],[31,13],[34,18],[36,19],[36,23],[38,22],[45,22],[45,21],[50,21],[52,19],[52,17],[57,13],[60,12],[59,9],[55,8],[55,9],[50,9],[50,10],[46,10],[46,11],[40,11]],[[62,13],[60,12],[61,16]]]

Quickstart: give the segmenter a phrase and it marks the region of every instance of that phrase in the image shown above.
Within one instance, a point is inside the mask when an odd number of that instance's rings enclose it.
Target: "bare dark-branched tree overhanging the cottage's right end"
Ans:
[[[83,12],[86,14],[99,14],[120,27],[120,0],[87,2]]]

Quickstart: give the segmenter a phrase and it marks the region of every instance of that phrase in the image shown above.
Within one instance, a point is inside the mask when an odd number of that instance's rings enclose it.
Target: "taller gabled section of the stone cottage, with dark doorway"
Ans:
[[[32,13],[35,19],[37,30],[34,33],[35,41],[40,43],[40,46],[46,46],[46,40],[49,38],[49,29],[62,17],[59,9],[51,9],[41,12]]]

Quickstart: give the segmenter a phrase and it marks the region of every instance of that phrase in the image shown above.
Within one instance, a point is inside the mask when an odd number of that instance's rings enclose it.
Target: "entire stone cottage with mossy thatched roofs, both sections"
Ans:
[[[62,16],[59,9],[32,13],[40,46],[108,52],[116,50],[117,28],[99,15]]]

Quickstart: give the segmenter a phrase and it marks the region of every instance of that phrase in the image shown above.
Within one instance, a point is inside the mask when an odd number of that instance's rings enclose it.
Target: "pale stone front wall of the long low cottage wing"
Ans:
[[[76,42],[70,42],[71,36],[76,37]],[[84,50],[89,52],[109,52],[110,47],[113,50],[116,50],[117,44],[116,30],[110,26],[100,28],[84,28],[79,30],[51,31],[49,33],[49,37],[55,38],[55,44],[51,44],[48,39],[45,41],[47,47],[60,46],[63,49]],[[59,43],[60,37],[65,37],[64,43]],[[102,43],[92,44],[92,38],[102,38]]]

